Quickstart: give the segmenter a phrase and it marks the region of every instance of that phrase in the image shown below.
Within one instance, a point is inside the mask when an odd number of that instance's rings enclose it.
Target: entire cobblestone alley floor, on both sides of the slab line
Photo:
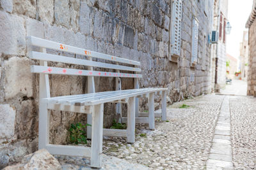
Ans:
[[[168,108],[166,122],[156,120],[155,131],[148,130],[147,124],[137,124],[136,142],[132,145],[125,138],[104,137],[102,169],[206,169],[207,160],[216,159],[210,154],[213,146],[228,143],[218,139],[218,133],[224,130],[229,132],[232,153],[228,157],[224,154],[224,161],[232,162],[234,169],[256,169],[255,106],[255,98],[214,94],[174,103]],[[219,122],[224,117],[231,122],[231,129]],[[88,159],[58,159],[63,169],[90,169]]]

